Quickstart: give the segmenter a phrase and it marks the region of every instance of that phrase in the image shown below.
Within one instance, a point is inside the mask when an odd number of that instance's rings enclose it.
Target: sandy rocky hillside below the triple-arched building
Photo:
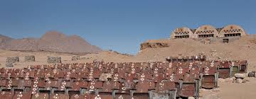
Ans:
[[[229,43],[203,44],[193,39],[148,40],[141,45],[138,59],[164,61],[170,56],[206,54],[208,60],[247,60],[249,70],[256,70],[256,35]]]

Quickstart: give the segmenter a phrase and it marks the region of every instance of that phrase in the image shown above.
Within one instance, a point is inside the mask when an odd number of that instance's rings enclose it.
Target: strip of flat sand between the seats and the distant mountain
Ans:
[[[36,57],[36,62],[24,62],[24,57],[27,55],[34,55]],[[0,68],[5,67],[6,57],[19,57],[20,62],[14,63],[13,68],[21,69],[28,65],[48,64],[46,62],[48,56],[61,57],[62,63],[85,63],[85,62],[93,62],[94,60],[104,60],[105,62],[141,62],[143,61],[143,60],[141,61],[137,60],[136,57],[129,57],[127,55],[117,54],[116,52],[110,52],[110,51],[103,51],[97,54],[82,55],[80,56],[80,60],[71,61],[71,58],[75,56],[74,54],[65,54],[65,53],[57,53],[57,52],[20,52],[20,51],[0,50],[0,64],[1,64]]]

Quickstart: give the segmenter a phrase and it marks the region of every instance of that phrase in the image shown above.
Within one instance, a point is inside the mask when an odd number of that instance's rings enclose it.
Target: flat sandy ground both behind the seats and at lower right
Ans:
[[[23,57],[26,55],[35,55],[36,62],[23,62]],[[17,52],[0,50],[0,64],[1,68],[5,67],[6,57],[20,57],[20,62],[14,64],[14,68],[23,68],[33,64],[47,64],[47,56],[59,56],[63,63],[79,63],[79,62],[93,62],[95,59],[104,60],[105,62],[143,62],[146,59],[142,56],[129,57],[116,52],[100,52],[98,54],[86,54],[80,56],[82,59],[78,61],[71,61],[73,54],[55,53],[55,52]],[[110,58],[111,57],[111,58]],[[230,83],[219,82],[219,88],[200,91],[200,98],[208,95],[213,95],[215,98],[221,99],[255,99],[256,95],[256,78],[247,78],[247,83]]]

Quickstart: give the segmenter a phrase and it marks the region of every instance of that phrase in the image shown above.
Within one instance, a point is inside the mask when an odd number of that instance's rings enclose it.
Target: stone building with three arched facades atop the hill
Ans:
[[[171,32],[171,39],[192,38],[204,43],[232,42],[247,33],[239,25],[227,25],[224,28],[215,28],[212,25],[201,25],[196,29],[186,27],[176,28]]]

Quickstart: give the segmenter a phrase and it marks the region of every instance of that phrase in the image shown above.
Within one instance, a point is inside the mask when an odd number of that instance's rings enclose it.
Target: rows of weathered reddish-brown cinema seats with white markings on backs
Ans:
[[[198,98],[199,88],[217,87],[223,63],[95,62],[3,68],[0,98]],[[100,79],[104,74],[111,76]]]

